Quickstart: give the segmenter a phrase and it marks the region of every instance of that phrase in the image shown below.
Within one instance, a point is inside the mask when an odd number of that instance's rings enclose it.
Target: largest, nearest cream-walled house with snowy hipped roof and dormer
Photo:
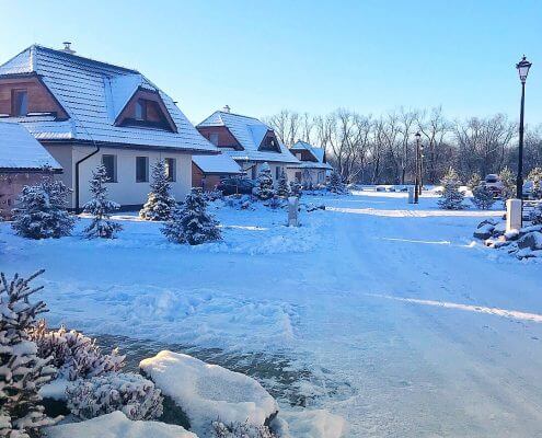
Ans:
[[[0,118],[23,124],[62,165],[71,207],[90,197],[104,164],[125,208],[149,193],[150,166],[166,161],[172,194],[192,187],[192,154],[218,153],[172,99],[137,70],[34,45],[0,66]]]

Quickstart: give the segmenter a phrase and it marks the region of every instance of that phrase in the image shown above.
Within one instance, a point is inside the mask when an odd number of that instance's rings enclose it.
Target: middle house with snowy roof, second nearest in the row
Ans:
[[[270,126],[254,117],[230,113],[228,106],[212,113],[196,128],[222,153],[235,160],[252,180],[265,162],[269,164],[275,182],[288,164],[298,163]]]

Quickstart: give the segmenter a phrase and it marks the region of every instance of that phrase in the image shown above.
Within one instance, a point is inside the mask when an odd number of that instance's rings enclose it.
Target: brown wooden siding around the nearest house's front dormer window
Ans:
[[[165,107],[160,94],[148,90],[138,90],[130,97],[124,110],[118,115],[115,124],[123,125],[138,125],[145,126],[143,122],[136,120],[136,103],[139,99],[146,100],[147,105],[147,122],[150,124],[155,124],[157,127],[162,127],[164,129],[172,130],[176,132],[176,126]]]

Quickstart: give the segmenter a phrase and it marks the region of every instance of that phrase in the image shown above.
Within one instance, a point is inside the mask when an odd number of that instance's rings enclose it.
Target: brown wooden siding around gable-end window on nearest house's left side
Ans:
[[[37,76],[25,78],[0,78],[0,114],[12,115],[13,90],[28,93],[28,113],[54,113],[58,119],[68,114]]]

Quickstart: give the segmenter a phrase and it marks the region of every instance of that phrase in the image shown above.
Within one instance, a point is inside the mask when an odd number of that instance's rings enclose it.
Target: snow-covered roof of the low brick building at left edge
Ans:
[[[23,125],[0,122],[0,169],[37,170],[43,166],[62,170]]]

